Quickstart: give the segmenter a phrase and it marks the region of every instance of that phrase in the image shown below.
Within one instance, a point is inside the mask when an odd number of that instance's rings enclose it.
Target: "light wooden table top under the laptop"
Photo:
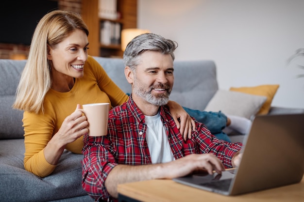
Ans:
[[[304,178],[298,184],[223,196],[172,180],[149,180],[118,185],[119,202],[304,202]]]

